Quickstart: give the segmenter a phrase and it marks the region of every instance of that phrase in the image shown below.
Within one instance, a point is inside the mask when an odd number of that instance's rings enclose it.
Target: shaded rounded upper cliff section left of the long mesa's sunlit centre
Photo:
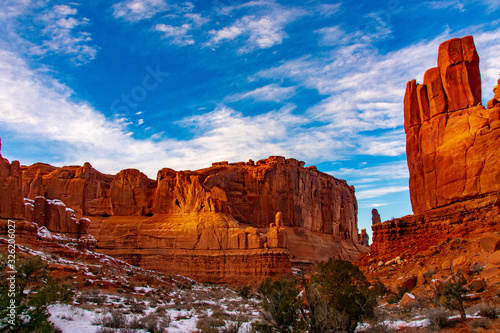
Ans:
[[[36,163],[23,167],[23,194],[35,199],[43,196],[63,201],[82,215],[152,214],[156,182],[135,169],[110,176],[83,166],[54,168]]]

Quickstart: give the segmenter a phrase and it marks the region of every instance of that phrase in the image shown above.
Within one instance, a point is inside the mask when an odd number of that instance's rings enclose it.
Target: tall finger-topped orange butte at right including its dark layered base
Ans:
[[[485,108],[472,36],[442,43],[437,67],[425,72],[423,82],[408,82],[404,97],[414,215],[372,226],[371,250],[358,261],[371,263],[372,271],[377,262],[441,253],[434,250],[446,244],[456,248],[455,240],[479,244],[488,232],[500,237],[500,89],[495,86]],[[489,252],[481,260],[500,276],[491,262],[500,252]]]

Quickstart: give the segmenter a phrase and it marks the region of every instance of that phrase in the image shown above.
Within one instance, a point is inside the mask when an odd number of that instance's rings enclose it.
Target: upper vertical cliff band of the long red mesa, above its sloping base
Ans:
[[[357,242],[354,188],[343,180],[283,157],[248,163],[214,163],[198,171],[162,169],[157,182],[137,170],[104,175],[89,163],[51,169],[23,168],[27,198],[59,199],[82,215],[152,215],[200,210],[230,213],[267,227],[276,212],[287,226]]]

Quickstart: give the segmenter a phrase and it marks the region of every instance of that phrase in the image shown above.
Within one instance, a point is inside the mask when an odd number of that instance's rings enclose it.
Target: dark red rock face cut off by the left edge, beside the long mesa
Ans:
[[[0,218],[22,219],[24,216],[21,192],[22,173],[18,161],[12,164],[2,157],[0,141]]]

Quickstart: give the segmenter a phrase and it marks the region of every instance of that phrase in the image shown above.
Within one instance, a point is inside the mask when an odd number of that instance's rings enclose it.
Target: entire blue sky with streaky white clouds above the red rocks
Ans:
[[[297,158],[356,187],[359,228],[411,213],[406,82],[473,35],[483,104],[500,3],[0,0],[2,154],[105,173]]]

